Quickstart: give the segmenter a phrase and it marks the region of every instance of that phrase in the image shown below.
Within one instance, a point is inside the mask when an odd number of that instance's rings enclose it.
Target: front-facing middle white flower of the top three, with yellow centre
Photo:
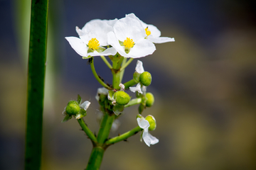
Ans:
[[[146,33],[142,24],[134,18],[119,19],[113,29],[114,31],[107,34],[107,42],[123,57],[145,57],[156,50],[154,43],[145,39]]]

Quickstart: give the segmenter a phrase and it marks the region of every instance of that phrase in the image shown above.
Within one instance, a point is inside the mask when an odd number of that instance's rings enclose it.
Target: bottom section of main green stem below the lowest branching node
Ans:
[[[104,152],[105,149],[103,149],[102,147],[93,147],[86,170],[100,169],[100,164],[102,162]]]

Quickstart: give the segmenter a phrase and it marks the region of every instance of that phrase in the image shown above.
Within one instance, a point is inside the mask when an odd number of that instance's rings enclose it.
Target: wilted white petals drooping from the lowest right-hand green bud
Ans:
[[[146,145],[148,145],[150,147],[150,145],[155,145],[156,143],[159,142],[159,140],[156,137],[152,136],[149,133],[149,121],[148,120],[146,120],[145,118],[137,118],[137,122],[138,122],[139,128],[143,129],[142,139],[144,140]]]

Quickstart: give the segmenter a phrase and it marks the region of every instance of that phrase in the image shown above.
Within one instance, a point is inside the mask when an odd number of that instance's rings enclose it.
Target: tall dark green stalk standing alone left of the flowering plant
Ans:
[[[25,169],[40,169],[46,74],[48,0],[31,1]]]

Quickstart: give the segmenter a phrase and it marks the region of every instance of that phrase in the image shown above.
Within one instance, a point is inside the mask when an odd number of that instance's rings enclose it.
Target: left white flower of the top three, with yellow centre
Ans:
[[[92,20],[85,24],[82,30],[75,28],[80,38],[65,37],[71,47],[82,57],[99,56],[99,55],[115,55],[117,53],[113,47],[105,48],[107,43],[107,33],[113,30],[109,23],[116,21],[101,21],[99,19]]]

